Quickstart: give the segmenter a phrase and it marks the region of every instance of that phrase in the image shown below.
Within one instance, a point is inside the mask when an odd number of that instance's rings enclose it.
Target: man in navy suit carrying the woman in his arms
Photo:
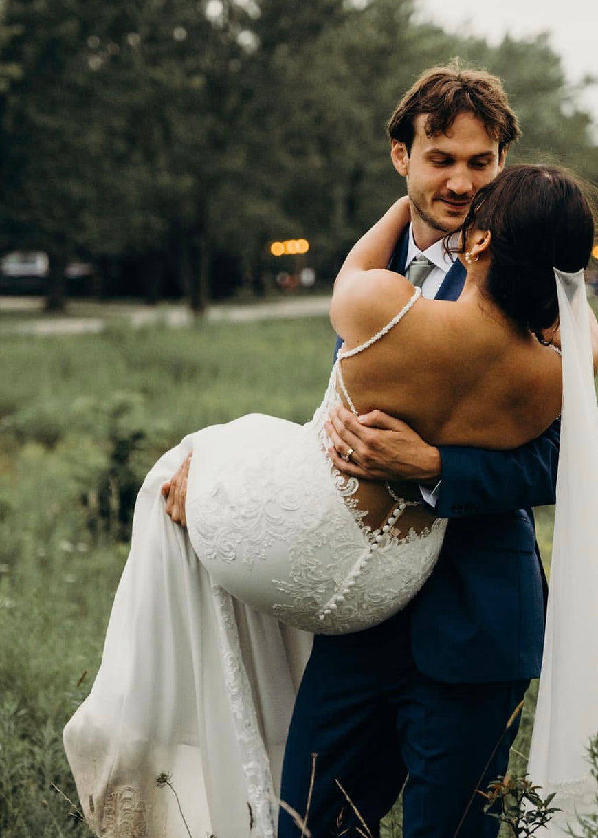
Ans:
[[[427,276],[412,279],[425,297],[459,296],[465,271],[442,240],[518,133],[500,81],[458,65],[426,71],[394,111],[391,157],[412,222],[390,267],[410,276],[425,256]],[[314,838],[363,834],[337,781],[373,835],[403,789],[404,838],[495,838],[498,822],[473,792],[506,773],[518,722],[503,736],[505,726],[539,675],[543,575],[530,510],[554,503],[558,423],[508,452],[431,447],[379,411],[358,421],[338,409],[327,429],[344,473],[425,484],[425,501],[450,521],[434,572],[403,612],[315,638],[281,799],[304,814],[310,796]],[[279,838],[300,832],[281,812]]]

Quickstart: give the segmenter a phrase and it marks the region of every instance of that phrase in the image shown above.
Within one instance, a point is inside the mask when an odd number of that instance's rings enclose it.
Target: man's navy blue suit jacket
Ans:
[[[390,269],[405,272],[407,238]],[[465,270],[436,299],[455,300]],[[513,451],[441,446],[436,514],[451,520],[430,578],[408,606],[418,669],[454,683],[539,675],[544,596],[532,507],[554,504],[559,422]],[[393,620],[386,623],[393,630]]]

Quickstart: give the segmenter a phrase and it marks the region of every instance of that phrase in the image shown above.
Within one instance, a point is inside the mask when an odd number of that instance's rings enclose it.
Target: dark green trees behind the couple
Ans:
[[[547,39],[496,47],[418,23],[415,0],[4,0],[0,250],[100,266],[155,300],[262,289],[305,236],[338,261],[403,189],[384,124],[420,70],[458,54],[500,75],[523,125],[512,159],[598,179],[590,118]],[[126,271],[123,273],[123,267]],[[137,283],[137,284],[136,284]]]

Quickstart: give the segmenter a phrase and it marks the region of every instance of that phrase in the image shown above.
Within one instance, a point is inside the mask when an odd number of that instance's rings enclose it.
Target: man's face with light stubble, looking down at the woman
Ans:
[[[425,115],[415,118],[410,150],[392,143],[394,168],[407,178],[415,243],[421,250],[456,230],[467,215],[474,194],[497,176],[506,153],[484,123],[460,113],[446,134],[425,135]]]

